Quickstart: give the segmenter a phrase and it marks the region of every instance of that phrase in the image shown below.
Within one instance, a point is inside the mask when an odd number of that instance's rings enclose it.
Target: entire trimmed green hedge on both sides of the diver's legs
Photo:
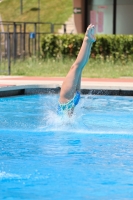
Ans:
[[[84,35],[46,35],[42,39],[43,57],[76,57]],[[133,60],[133,35],[97,35],[91,57],[101,61]]]

